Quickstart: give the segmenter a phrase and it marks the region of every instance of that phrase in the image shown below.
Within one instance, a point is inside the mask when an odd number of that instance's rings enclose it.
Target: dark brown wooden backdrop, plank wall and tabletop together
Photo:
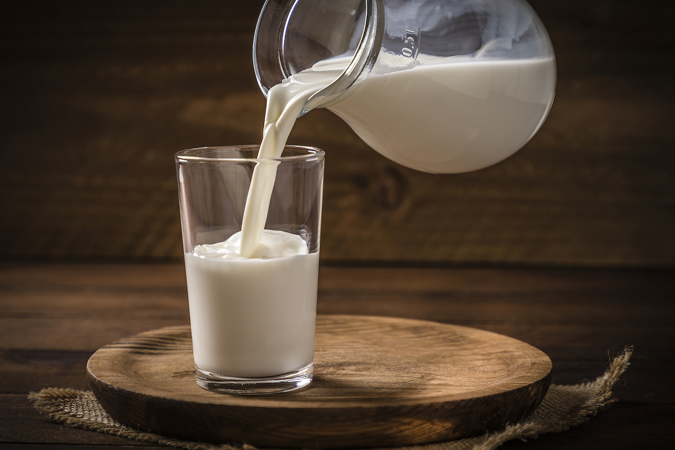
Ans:
[[[105,343],[188,322],[173,154],[259,142],[250,54],[262,3],[1,7],[3,450],[143,445],[45,422],[26,395],[86,389],[86,361]],[[556,49],[558,93],[510,159],[418,173],[328,111],[298,121],[290,143],[327,152],[318,310],[504,333],[545,351],[563,384],[634,345],[620,403],[506,448],[668,448],[675,3],[531,3]]]

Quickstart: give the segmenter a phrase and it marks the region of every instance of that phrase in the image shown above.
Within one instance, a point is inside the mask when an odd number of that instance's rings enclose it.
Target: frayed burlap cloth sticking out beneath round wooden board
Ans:
[[[618,401],[612,394],[612,387],[630,364],[628,360],[631,354],[632,348],[626,347],[622,354],[614,358],[607,372],[595,381],[571,386],[551,385],[543,402],[533,414],[517,424],[508,424],[501,431],[457,441],[397,447],[397,450],[491,450],[511,439],[526,441],[541,433],[568,430],[587,422],[589,416]],[[73,428],[187,450],[240,450],[232,445],[180,441],[120,424],[103,410],[89,391],[50,387],[38,393],[30,393],[28,398],[35,402],[39,412],[47,414],[47,420]],[[243,448],[254,450],[250,445],[244,445]]]

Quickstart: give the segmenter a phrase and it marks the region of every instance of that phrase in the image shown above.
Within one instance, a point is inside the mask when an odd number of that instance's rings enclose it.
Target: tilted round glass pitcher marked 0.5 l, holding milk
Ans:
[[[369,146],[434,173],[506,159],[553,103],[549,36],[524,0],[267,0],[253,43],[263,91],[326,61],[325,107]]]

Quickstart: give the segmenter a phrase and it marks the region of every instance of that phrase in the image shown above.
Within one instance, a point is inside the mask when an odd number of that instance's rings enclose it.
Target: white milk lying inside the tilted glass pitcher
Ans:
[[[555,85],[553,57],[448,57],[369,77],[328,109],[392,161],[458,173],[524,146],[545,120]]]

